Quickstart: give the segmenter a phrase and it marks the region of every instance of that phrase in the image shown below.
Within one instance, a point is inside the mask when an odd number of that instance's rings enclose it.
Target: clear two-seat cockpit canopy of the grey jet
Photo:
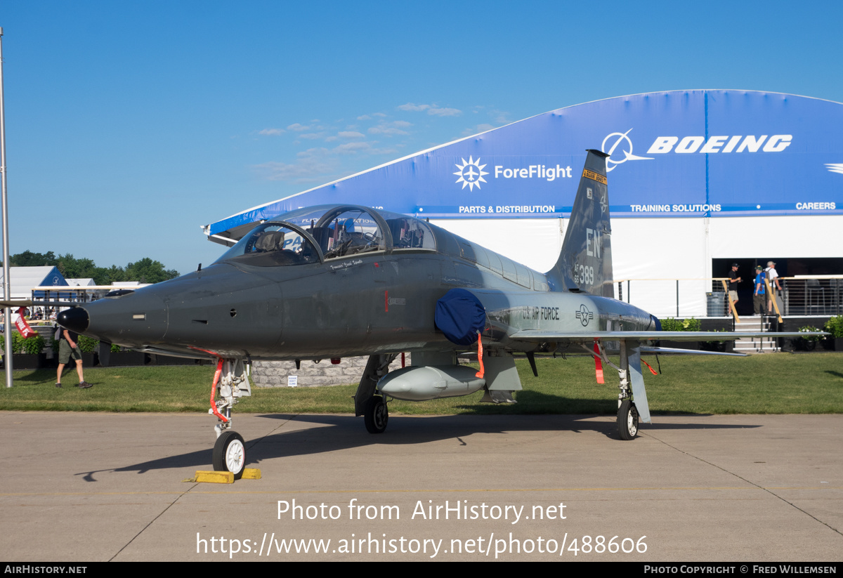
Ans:
[[[312,206],[261,223],[218,261],[260,267],[306,265],[407,249],[436,250],[427,222],[362,206]]]

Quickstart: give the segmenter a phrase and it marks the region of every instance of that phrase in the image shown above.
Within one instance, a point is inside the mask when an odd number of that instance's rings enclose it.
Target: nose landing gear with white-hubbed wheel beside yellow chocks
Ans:
[[[217,393],[220,399],[215,401]],[[213,428],[217,442],[213,447],[212,463],[214,471],[231,472],[234,479],[243,477],[246,444],[243,436],[231,429],[231,410],[241,397],[251,394],[243,360],[219,358],[211,386],[211,409],[208,409],[209,414],[217,416],[217,425]]]

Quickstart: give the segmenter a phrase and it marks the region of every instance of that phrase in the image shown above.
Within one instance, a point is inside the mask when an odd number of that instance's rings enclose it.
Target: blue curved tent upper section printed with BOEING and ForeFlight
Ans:
[[[843,214],[843,104],[686,90],[577,104],[449,142],[205,227],[229,244],[301,206],[416,217],[566,217],[585,149],[609,153],[617,217]]]

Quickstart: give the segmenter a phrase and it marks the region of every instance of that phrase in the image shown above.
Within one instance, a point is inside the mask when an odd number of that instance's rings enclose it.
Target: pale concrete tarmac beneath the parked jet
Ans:
[[[235,415],[262,479],[197,484],[211,416],[0,412],[0,553],[841,559],[843,415],[654,420],[620,442],[609,416],[391,416],[370,435],[351,415]]]

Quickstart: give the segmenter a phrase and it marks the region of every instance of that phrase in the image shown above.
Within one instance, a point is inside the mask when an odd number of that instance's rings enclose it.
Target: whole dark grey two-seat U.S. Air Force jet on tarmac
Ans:
[[[369,356],[355,409],[379,433],[389,398],[483,389],[484,401],[513,403],[521,389],[513,354],[535,372],[535,353],[585,353],[618,371],[618,431],[630,440],[639,420],[650,422],[642,353],[664,351],[646,344],[711,334],[662,332],[657,318],[613,298],[606,156],[588,151],[561,254],[546,273],[416,218],[315,206],[258,224],[205,269],[112,292],[58,322],[104,344],[217,359],[213,465],[235,477],[246,458],[231,410],[250,395],[251,360]],[[411,352],[411,366],[389,372],[401,352]],[[481,372],[458,365],[468,352],[478,352]]]

